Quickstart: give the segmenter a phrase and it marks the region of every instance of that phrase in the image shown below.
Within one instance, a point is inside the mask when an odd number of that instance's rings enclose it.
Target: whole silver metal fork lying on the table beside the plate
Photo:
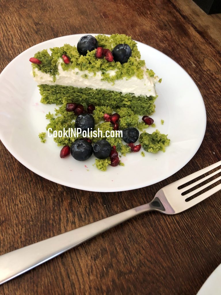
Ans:
[[[160,189],[154,199],[148,203],[136,208],[127,210],[125,212],[107,217],[105,219],[93,222],[91,224],[79,227],[75,230],[51,237],[47,240],[37,242],[35,244],[23,247],[21,249],[9,252],[0,256],[0,284],[9,281],[10,279],[21,275],[22,273],[38,266],[45,261],[54,258],[55,256],[83,243],[86,240],[108,230],[111,227],[120,224],[138,214],[148,211],[158,211],[164,214],[177,214],[189,209],[190,207],[198,204],[207,197],[215,194],[221,189],[221,183],[208,191],[200,194],[199,196],[186,201],[194,194],[206,189],[208,186],[216,183],[221,179],[221,176],[211,180],[210,182],[202,185],[201,187],[194,189],[193,191],[184,194],[187,190],[194,188],[203,181],[215,176],[221,172],[221,168],[217,171],[203,177],[202,179],[195,181],[192,184],[185,186],[184,188],[178,189],[180,186],[188,183],[189,181],[210,172],[211,170],[219,167],[221,161],[204,168],[198,172],[195,172],[189,176],[181,178],[174,183],[164,186]]]

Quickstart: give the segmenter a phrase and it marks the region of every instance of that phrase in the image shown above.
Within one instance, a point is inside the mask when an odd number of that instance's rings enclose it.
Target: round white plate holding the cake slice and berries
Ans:
[[[206,112],[202,96],[190,76],[171,58],[138,42],[141,57],[148,68],[162,78],[156,85],[159,97],[151,117],[161,133],[171,140],[166,152],[131,153],[121,160],[124,167],[108,167],[106,172],[93,166],[94,156],[85,162],[71,156],[60,158],[60,149],[52,138],[41,143],[45,132],[45,114],[55,105],[40,103],[36,83],[30,76],[29,58],[38,50],[77,45],[81,36],[70,35],[37,44],[18,55],[0,75],[0,138],[9,152],[38,175],[56,183],[88,191],[124,191],[149,186],[181,169],[197,152],[205,133]],[[92,34],[96,35],[96,34]],[[164,124],[161,125],[161,119]],[[156,128],[149,127],[152,133]]]

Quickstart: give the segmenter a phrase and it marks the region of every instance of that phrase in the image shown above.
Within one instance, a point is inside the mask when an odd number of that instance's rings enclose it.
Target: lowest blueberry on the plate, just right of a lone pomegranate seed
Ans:
[[[85,161],[93,154],[92,145],[84,139],[76,140],[71,145],[71,155],[75,160]]]

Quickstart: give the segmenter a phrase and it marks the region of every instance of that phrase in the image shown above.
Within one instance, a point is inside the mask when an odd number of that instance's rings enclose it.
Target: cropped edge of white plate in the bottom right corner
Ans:
[[[220,295],[221,294],[221,264],[211,273],[209,278],[200,288],[197,295]]]

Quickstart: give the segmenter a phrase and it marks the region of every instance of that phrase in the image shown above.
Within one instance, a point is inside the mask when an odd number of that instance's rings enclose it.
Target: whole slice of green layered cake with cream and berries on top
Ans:
[[[42,50],[30,58],[41,102],[127,107],[136,114],[152,114],[161,82],[141,60],[137,44],[126,35],[83,36],[76,46],[65,44]]]

